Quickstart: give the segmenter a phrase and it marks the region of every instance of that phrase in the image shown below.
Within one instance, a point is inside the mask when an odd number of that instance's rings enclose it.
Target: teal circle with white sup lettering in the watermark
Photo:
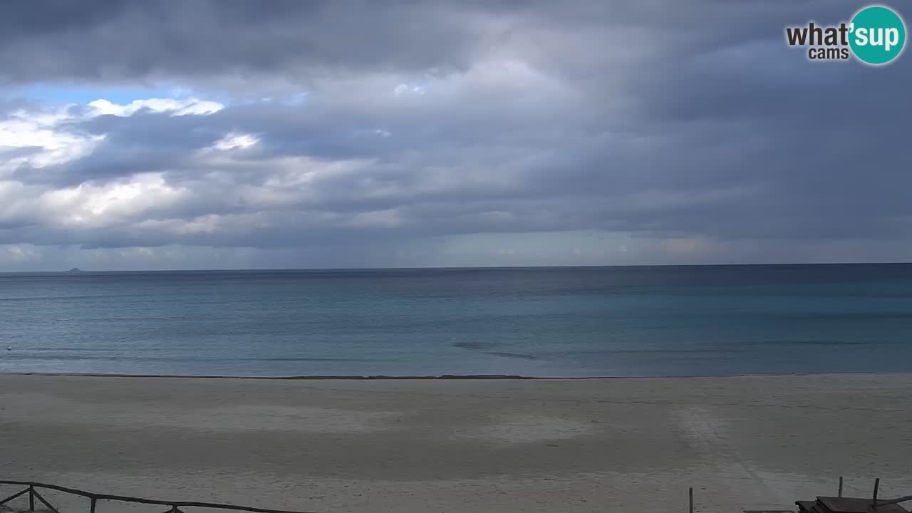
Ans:
[[[849,26],[849,46],[856,58],[873,65],[899,57],[906,44],[906,25],[893,9],[871,5],[858,11]]]

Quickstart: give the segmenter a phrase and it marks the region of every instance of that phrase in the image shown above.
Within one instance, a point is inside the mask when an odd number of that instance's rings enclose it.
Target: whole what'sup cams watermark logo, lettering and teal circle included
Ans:
[[[847,60],[854,55],[866,64],[892,62],[906,46],[906,24],[896,11],[883,5],[868,5],[852,21],[836,26],[785,27],[790,47],[807,47],[811,60]]]

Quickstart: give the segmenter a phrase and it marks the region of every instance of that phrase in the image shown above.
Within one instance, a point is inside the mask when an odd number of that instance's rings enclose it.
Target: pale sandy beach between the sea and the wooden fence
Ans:
[[[867,496],[875,477],[881,497],[909,494],[910,464],[912,374],[0,376],[0,478],[138,497],[321,513],[667,512],[686,510],[694,487],[698,511],[734,512],[835,494],[841,475],[847,495]],[[128,509],[155,508],[98,511]]]

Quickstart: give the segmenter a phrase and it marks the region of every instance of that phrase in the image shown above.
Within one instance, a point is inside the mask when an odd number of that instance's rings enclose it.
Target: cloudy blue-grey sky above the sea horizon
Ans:
[[[864,5],[6,2],[0,271],[910,261]]]

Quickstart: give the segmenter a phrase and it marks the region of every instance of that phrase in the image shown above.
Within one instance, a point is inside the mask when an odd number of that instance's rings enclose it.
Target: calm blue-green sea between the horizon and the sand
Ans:
[[[0,274],[0,372],[912,369],[912,265]]]

